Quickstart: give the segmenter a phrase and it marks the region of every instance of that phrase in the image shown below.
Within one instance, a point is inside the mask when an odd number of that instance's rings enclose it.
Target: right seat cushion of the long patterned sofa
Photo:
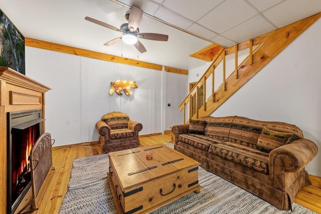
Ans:
[[[228,141],[211,144],[209,152],[261,173],[268,173],[269,154],[266,152]]]

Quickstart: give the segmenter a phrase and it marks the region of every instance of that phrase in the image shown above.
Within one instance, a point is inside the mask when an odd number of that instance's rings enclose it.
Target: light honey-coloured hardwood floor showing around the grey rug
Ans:
[[[153,145],[171,141],[171,135],[154,135],[140,137],[141,145]],[[97,143],[85,143],[74,147],[53,147],[53,166],[55,173],[48,186],[47,192],[39,206],[33,213],[58,213],[64,195],[67,192],[72,162],[75,158],[101,154],[101,147]],[[320,186],[319,186],[320,187]],[[295,202],[321,213],[321,189],[310,185],[300,190]]]

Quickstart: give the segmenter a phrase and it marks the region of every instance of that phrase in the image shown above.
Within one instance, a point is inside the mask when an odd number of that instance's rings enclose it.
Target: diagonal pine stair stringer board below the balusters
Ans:
[[[250,65],[250,60],[247,60],[241,68],[238,69],[238,79],[234,78],[234,71],[226,80],[226,90],[224,91],[222,84],[215,92],[215,102],[213,102],[212,99],[209,99],[206,102],[206,111],[204,111],[204,106],[202,106],[199,109],[198,117],[211,115],[320,17],[321,13],[258,37],[257,43],[264,44],[253,54],[253,64]],[[196,115],[191,119],[197,119]]]

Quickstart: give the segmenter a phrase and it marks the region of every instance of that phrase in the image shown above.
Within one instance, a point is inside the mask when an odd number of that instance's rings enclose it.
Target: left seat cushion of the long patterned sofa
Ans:
[[[204,151],[208,151],[211,144],[220,142],[211,137],[199,134],[180,134],[179,141],[182,141]]]

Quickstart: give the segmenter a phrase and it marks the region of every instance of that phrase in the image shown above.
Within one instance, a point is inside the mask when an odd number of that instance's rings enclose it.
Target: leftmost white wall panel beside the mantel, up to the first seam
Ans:
[[[52,88],[45,115],[55,146],[81,142],[81,58],[26,47],[26,76]]]

